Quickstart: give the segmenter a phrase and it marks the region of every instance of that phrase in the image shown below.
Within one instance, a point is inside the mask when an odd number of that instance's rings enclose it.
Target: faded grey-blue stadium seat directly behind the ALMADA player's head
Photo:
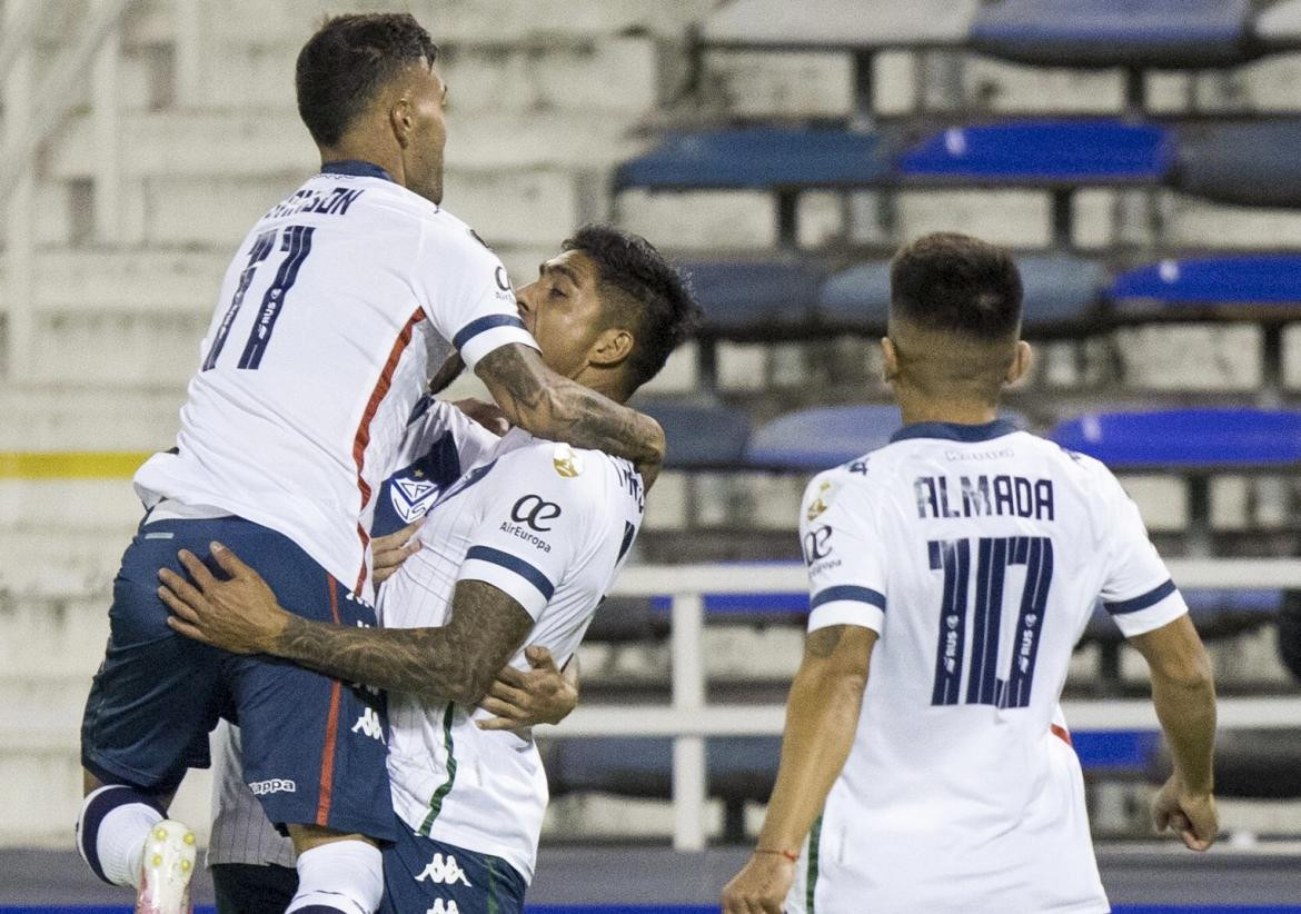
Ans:
[[[1106,287],[1106,268],[1067,254],[1017,257],[1029,333],[1086,320]],[[859,264],[837,273],[818,294],[818,317],[831,326],[879,330],[890,309],[890,263]]]

